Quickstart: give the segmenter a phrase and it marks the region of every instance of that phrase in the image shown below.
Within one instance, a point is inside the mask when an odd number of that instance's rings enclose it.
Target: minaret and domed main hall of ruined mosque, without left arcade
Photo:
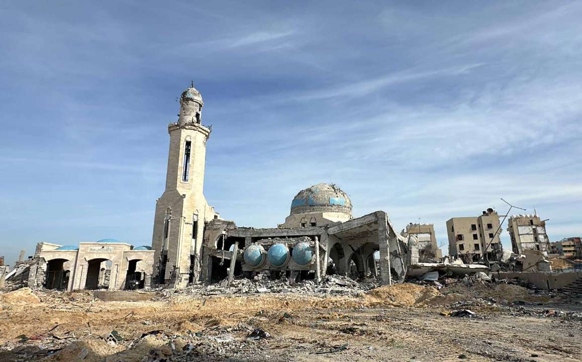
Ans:
[[[276,228],[237,227],[222,220],[203,195],[205,145],[211,128],[201,124],[200,92],[180,97],[180,116],[168,126],[166,190],[158,199],[152,249],[154,284],[175,287],[219,281],[261,271],[292,279],[325,273],[375,273],[379,252],[382,281],[402,281],[407,239],[385,212],[353,218],[352,203],[335,185],[297,193],[285,222]]]

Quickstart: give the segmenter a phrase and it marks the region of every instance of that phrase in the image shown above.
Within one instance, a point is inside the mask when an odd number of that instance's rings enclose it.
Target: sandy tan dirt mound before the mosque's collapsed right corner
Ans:
[[[372,289],[367,298],[372,304],[391,304],[394,306],[424,306],[433,298],[442,296],[431,286],[404,283],[381,286]]]

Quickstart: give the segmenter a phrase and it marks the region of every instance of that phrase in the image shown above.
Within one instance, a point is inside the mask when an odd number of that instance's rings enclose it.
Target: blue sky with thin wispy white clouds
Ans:
[[[444,253],[446,220],[501,198],[551,241],[581,235],[580,19],[577,1],[0,1],[0,255],[151,245],[190,81],[205,196],[239,226],[327,182],[354,217],[435,224]]]

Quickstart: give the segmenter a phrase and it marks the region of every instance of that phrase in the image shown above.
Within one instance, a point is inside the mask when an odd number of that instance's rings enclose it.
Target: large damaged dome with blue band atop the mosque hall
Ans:
[[[335,212],[352,214],[352,201],[336,185],[317,184],[299,191],[291,202],[291,214]]]

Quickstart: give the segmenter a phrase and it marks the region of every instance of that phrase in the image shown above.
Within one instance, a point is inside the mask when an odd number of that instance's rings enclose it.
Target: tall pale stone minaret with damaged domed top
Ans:
[[[201,124],[203,105],[192,85],[180,96],[178,122],[168,125],[166,190],[155,206],[152,284],[182,288],[198,279],[204,223],[215,216],[203,193],[206,141],[211,132]]]

